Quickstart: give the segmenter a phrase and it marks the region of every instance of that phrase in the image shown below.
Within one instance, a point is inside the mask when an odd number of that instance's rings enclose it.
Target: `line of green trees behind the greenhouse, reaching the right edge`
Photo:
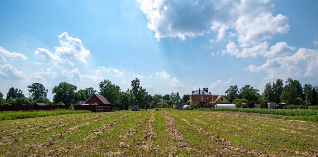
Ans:
[[[237,107],[242,103],[247,103],[249,108],[253,108],[265,100],[277,104],[317,105],[317,90],[317,86],[311,84],[302,86],[298,80],[287,78],[285,86],[281,79],[266,83],[262,95],[259,94],[258,89],[254,89],[250,85],[245,85],[241,89],[237,85],[232,85],[225,91],[225,97]]]

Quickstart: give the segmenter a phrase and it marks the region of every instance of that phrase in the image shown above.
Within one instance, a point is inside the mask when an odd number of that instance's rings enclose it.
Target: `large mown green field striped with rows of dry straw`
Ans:
[[[0,121],[0,156],[317,156],[318,124],[211,111]]]

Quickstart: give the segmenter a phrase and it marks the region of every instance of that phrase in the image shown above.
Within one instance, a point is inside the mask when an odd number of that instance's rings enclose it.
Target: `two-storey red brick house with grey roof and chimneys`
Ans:
[[[199,88],[199,90],[192,91],[189,101],[190,105],[198,103],[199,107],[209,108],[211,107],[212,94],[208,92],[208,88],[203,88],[203,90]]]

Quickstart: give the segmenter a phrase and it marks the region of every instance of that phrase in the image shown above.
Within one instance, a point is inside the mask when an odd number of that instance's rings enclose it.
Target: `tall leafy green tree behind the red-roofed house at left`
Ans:
[[[103,95],[112,105],[118,105],[119,86],[110,80],[103,80],[99,83],[100,95]]]

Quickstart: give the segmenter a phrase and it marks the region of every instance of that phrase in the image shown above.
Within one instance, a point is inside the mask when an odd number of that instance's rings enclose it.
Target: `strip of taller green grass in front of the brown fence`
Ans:
[[[46,116],[57,116],[63,114],[77,114],[77,113],[90,113],[87,110],[68,110],[68,109],[54,109],[54,110],[41,110],[41,111],[1,111],[0,120],[36,118]]]

